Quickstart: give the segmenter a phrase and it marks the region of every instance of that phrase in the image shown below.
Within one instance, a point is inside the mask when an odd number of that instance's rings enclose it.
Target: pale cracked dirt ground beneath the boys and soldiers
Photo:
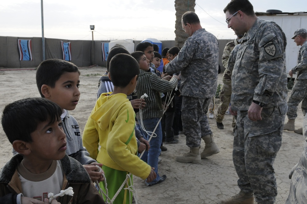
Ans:
[[[80,71],[81,96],[76,109],[70,111],[70,114],[79,122],[82,133],[96,101],[99,76],[104,73],[105,68],[92,67],[80,69]],[[1,112],[6,104],[15,100],[26,97],[40,97],[35,82],[35,73],[36,71],[30,70],[0,71]],[[221,78],[222,74],[219,74],[219,83],[222,83]],[[296,128],[302,126],[302,119],[301,109],[298,108]],[[188,147],[185,145],[185,136],[180,134],[180,142],[178,144],[165,144],[168,150],[161,153],[162,161],[159,163],[159,174],[167,175],[165,182],[147,187],[142,179],[134,177],[138,203],[216,203],[221,198],[231,197],[239,192],[237,187],[238,177],[232,162],[232,116],[225,116],[223,120],[225,128],[223,130],[216,127],[215,119],[209,119],[209,122],[215,141],[220,148],[220,153],[208,157],[208,159],[202,159],[200,164],[176,162],[177,155],[188,151]],[[0,167],[3,167],[12,156],[12,146],[2,127],[0,127],[0,135],[0,147],[2,149]],[[290,189],[288,175],[300,158],[304,142],[302,135],[289,131],[283,132],[282,147],[274,163],[278,184],[276,203],[285,203],[288,197]],[[203,141],[202,146],[204,147]]]

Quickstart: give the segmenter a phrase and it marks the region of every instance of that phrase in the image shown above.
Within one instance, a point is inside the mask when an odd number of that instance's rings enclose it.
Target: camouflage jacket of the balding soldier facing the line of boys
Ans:
[[[196,30],[178,55],[165,65],[165,72],[181,71],[181,95],[211,98],[216,94],[219,43],[205,29]]]

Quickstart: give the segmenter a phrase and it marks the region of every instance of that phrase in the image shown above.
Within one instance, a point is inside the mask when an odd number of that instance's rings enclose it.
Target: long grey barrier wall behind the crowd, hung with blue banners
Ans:
[[[17,45],[18,39],[32,40],[32,61],[20,61],[19,50]],[[106,66],[106,61],[102,59],[102,42],[109,41],[89,41],[89,40],[65,40],[45,38],[45,56],[46,59],[63,59],[61,41],[71,42],[71,62],[78,67],[88,67],[91,65]],[[227,42],[232,40],[219,40],[220,59],[222,71],[223,66],[221,57]],[[134,47],[141,41],[134,41]],[[161,41],[162,49],[175,46],[175,41]],[[4,37],[0,36],[0,67],[7,68],[30,68],[37,67],[43,61],[42,40],[41,37]]]

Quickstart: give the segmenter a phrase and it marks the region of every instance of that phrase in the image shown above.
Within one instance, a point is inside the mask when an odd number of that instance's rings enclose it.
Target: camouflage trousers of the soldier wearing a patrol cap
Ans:
[[[297,106],[301,101],[301,109],[305,116],[307,112],[307,79],[295,80],[291,95],[288,99],[288,119],[295,119],[297,117]]]

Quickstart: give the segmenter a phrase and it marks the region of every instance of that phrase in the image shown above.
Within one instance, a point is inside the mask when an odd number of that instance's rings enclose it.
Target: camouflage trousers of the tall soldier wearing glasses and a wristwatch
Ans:
[[[273,163],[282,144],[286,104],[262,109],[262,120],[251,121],[247,111],[238,111],[232,158],[238,186],[254,193],[258,204],[272,204],[277,195]]]

